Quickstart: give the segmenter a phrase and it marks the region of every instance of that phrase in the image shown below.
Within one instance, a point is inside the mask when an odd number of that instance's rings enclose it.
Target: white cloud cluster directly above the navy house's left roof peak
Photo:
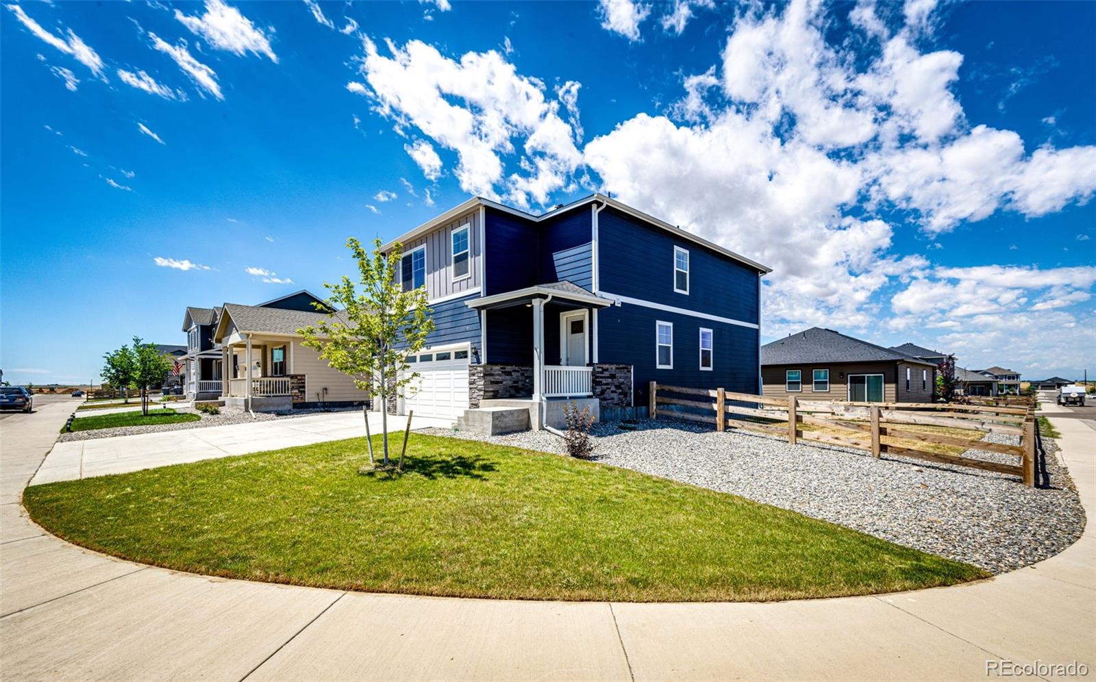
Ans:
[[[457,61],[420,41],[403,48],[388,42],[388,49],[391,56],[383,56],[366,39],[361,59],[376,110],[401,134],[415,126],[456,151],[454,173],[465,191],[498,197],[502,185],[505,197],[520,206],[530,200],[543,205],[581,163],[573,129],[560,118],[560,102],[547,101],[545,84],[518,76],[498,52],[467,53]],[[501,157],[516,152],[515,137],[525,138],[524,172],[504,177]],[[416,162],[434,167],[425,147],[412,149],[421,152]]]

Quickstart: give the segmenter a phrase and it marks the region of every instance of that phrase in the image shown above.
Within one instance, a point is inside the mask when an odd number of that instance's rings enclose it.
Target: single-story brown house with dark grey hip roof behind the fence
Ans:
[[[854,402],[929,402],[936,363],[813,327],[761,346],[766,396]]]

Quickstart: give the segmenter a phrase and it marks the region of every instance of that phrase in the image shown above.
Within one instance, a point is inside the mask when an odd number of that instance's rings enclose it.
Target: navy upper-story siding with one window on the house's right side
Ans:
[[[597,218],[598,288],[757,323],[757,271],[614,208]],[[689,252],[689,293],[674,292],[674,247]],[[612,362],[612,361],[608,361]]]

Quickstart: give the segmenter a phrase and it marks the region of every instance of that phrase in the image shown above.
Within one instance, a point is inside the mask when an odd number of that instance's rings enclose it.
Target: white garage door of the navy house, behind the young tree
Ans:
[[[425,350],[409,363],[419,378],[411,383],[403,399],[404,412],[418,417],[456,420],[468,409],[468,349]],[[414,389],[418,390],[414,390]]]

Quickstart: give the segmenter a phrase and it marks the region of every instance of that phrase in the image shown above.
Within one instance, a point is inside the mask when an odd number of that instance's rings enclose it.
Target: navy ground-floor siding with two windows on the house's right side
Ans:
[[[655,322],[674,326],[673,370],[655,367]],[[633,366],[636,405],[647,405],[648,383],[756,393],[756,329],[623,304],[597,314],[598,360]],[[700,328],[712,330],[712,370],[700,370]]]

